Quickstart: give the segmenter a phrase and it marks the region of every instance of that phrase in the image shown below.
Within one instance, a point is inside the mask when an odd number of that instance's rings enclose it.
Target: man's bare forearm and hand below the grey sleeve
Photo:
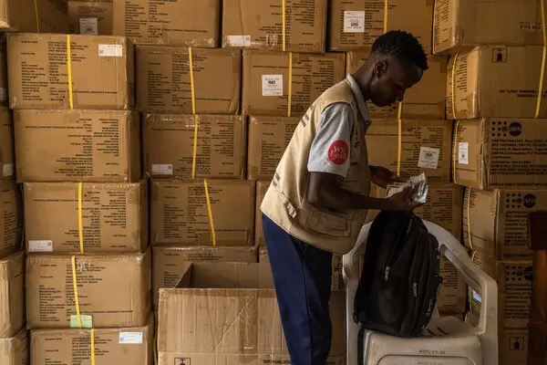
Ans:
[[[342,178],[334,173],[311,172],[307,199],[310,203],[343,212],[359,209],[377,209],[382,211],[411,211],[420,204],[410,201],[412,189],[387,199],[373,198],[352,193],[340,187]]]

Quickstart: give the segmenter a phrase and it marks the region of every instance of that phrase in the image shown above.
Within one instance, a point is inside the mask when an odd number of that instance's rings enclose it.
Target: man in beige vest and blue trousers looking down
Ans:
[[[366,101],[386,107],[428,69],[418,40],[403,31],[377,38],[353,75],[325,91],[306,111],[279,162],[263,204],[263,233],[274,274],[285,339],[294,365],[325,365],[333,253],[356,243],[367,209],[410,211],[410,191],[369,196],[396,174],[368,166]]]

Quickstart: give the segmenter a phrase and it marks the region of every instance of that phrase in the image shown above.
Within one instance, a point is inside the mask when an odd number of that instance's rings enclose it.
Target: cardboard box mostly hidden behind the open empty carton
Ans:
[[[152,287],[154,308],[158,309],[160,288],[177,287],[194,262],[256,263],[257,247],[155,246],[152,248]]]

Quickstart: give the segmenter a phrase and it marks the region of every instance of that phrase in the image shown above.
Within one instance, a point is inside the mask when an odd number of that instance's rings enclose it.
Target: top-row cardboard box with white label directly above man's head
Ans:
[[[387,15],[384,0],[331,0],[328,47],[331,51],[370,48],[378,36],[404,29],[412,33],[431,53],[433,1],[395,0],[389,2]]]

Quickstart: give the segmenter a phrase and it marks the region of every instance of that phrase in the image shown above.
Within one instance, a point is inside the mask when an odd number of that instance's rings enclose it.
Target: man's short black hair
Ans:
[[[372,53],[414,64],[424,71],[428,69],[428,57],[424,47],[420,45],[416,36],[403,30],[391,30],[378,36],[372,45]]]

